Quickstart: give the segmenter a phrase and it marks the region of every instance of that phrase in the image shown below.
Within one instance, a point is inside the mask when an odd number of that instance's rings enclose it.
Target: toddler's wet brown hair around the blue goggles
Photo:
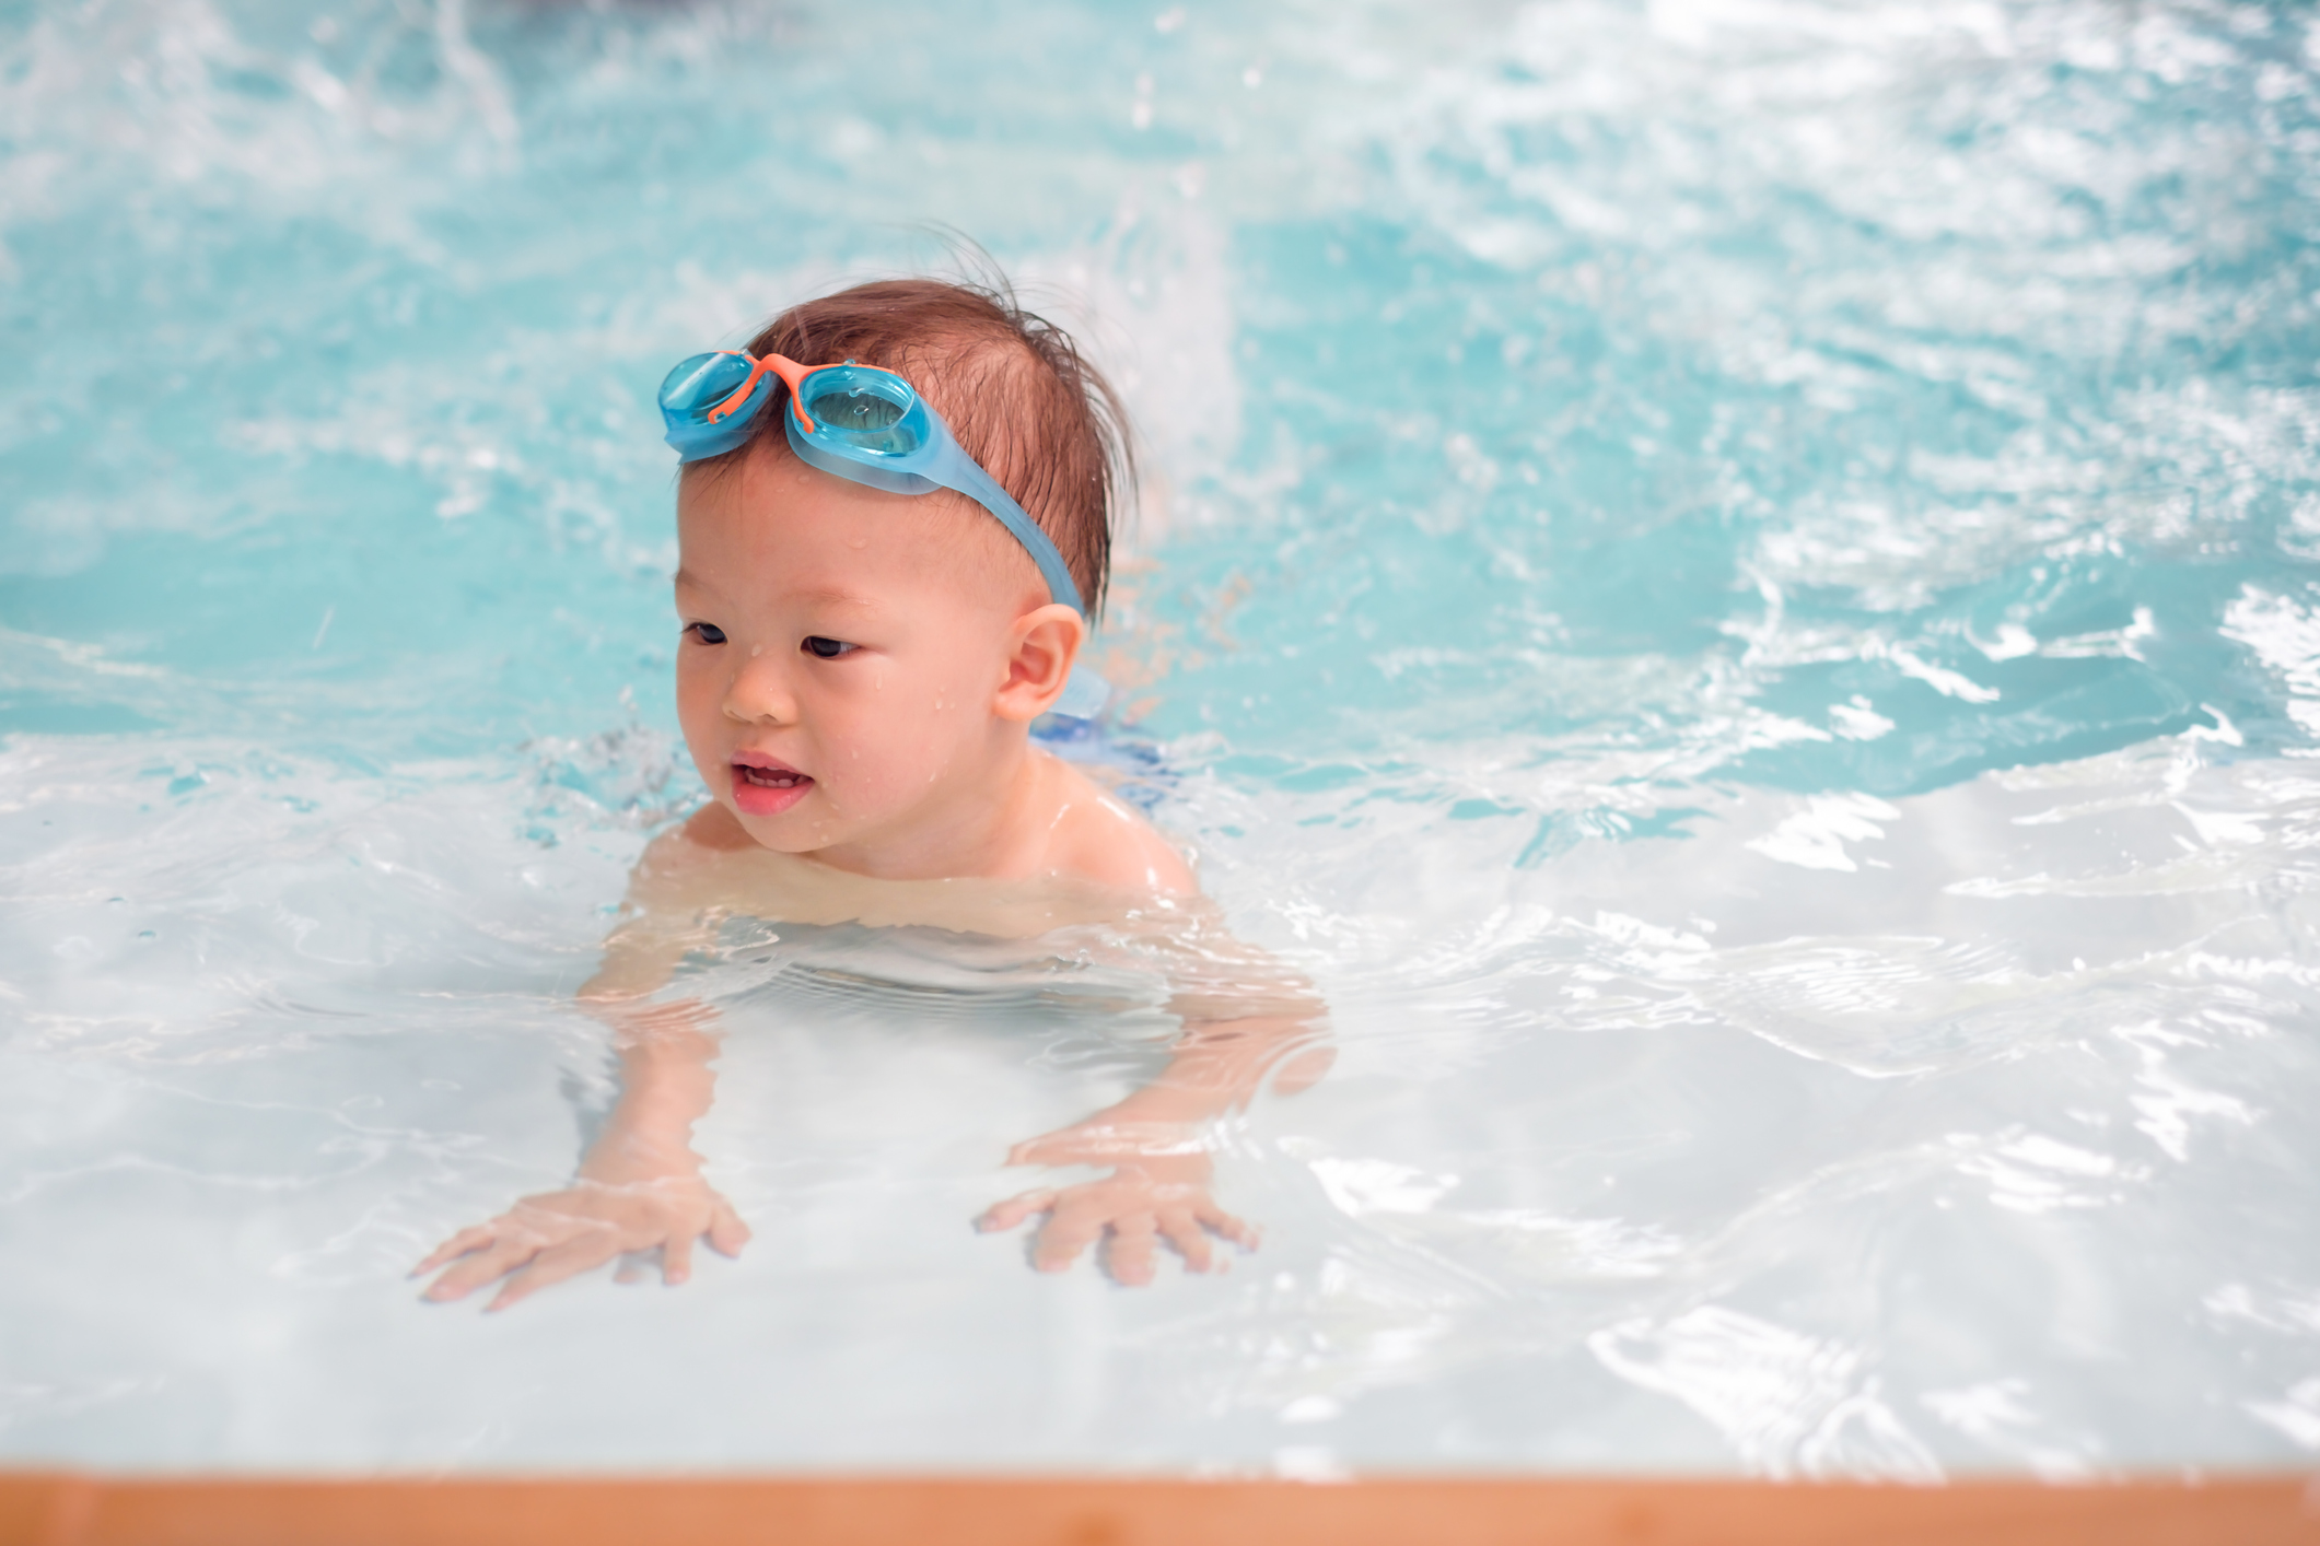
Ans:
[[[1072,336],[1016,304],[1005,283],[891,278],[800,301],[752,341],[756,357],[854,359],[893,371],[942,415],[958,445],[1063,554],[1090,619],[1111,577],[1114,512],[1134,489],[1128,413]],[[722,473],[763,445],[786,454],[775,385],[749,438],[687,466]]]

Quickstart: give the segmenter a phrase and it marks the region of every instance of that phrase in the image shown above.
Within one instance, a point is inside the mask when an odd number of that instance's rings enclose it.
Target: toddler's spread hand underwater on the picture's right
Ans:
[[[1018,1147],[1014,1164],[1076,1164],[1044,1154],[1037,1161],[1023,1159],[1042,1143],[1046,1140]],[[1116,1282],[1128,1286],[1153,1279],[1160,1240],[1174,1245],[1192,1272],[1206,1272],[1213,1261],[1209,1231],[1241,1249],[1257,1249],[1257,1231],[1216,1205],[1209,1194],[1209,1157],[1197,1152],[1144,1154],[1121,1164],[1100,1182],[1025,1191],[986,1212],[974,1226],[981,1231],[1014,1228],[1042,1212],[1046,1224],[1039,1226],[1030,1256],[1042,1272],[1063,1272],[1107,1233],[1111,1247],[1104,1252],[1104,1266]]]

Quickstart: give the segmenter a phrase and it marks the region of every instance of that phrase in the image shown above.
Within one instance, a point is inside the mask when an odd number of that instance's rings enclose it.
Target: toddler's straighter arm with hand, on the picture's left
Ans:
[[[515,1203],[490,1224],[464,1228],[434,1249],[415,1275],[448,1266],[429,1289],[452,1300],[501,1282],[490,1310],[587,1272],[626,1252],[661,1252],[661,1277],[691,1275],[694,1240],[708,1235],[726,1256],[740,1252],[749,1226],[701,1177],[691,1150],[694,1122],[708,1113],[717,1075],[717,1013],[698,999],[654,1004],[647,994],[668,983],[684,950],[708,943],[710,929],[661,927],[680,897],[666,888],[666,860],[682,834],[654,844],[631,885],[631,923],[606,941],[606,960],[580,990],[580,1006],[612,1027],[619,1052],[619,1101],[603,1133],[580,1161],[573,1184]],[[654,874],[654,860],[664,874]],[[657,883],[664,881],[664,883]]]

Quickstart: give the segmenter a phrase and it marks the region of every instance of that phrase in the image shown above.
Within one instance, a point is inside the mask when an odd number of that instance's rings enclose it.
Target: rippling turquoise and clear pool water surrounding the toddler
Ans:
[[[2308,1465],[2320,23],[0,5],[0,1458]],[[1097,756],[1332,1006],[1223,1277],[967,1228],[1148,983],[738,929],[756,1228],[427,1307],[612,1096],[652,387],[949,225],[1128,392]]]

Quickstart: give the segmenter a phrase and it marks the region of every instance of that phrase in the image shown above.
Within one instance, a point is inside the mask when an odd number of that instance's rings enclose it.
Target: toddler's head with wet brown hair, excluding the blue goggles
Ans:
[[[1102,598],[1123,422],[1063,331],[1002,294],[893,280],[782,313],[749,355],[902,375]],[[965,496],[800,461],[784,408],[786,389],[677,487],[684,739],[759,844],[914,872],[998,821],[1086,619]]]

